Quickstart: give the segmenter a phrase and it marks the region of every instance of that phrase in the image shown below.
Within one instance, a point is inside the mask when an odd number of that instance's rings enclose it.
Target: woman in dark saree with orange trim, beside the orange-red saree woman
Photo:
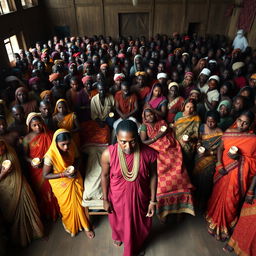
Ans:
[[[221,143],[222,130],[217,127],[219,113],[208,111],[206,123],[200,126],[199,143],[195,156],[193,183],[197,188],[199,210],[205,210],[213,186],[213,175],[217,162],[217,149]]]

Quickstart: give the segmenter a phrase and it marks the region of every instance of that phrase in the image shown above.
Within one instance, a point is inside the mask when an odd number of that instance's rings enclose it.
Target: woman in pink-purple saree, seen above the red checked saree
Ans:
[[[167,99],[163,96],[163,89],[161,84],[154,84],[151,92],[146,97],[144,108],[151,108],[156,114],[157,119],[164,119],[167,110]]]

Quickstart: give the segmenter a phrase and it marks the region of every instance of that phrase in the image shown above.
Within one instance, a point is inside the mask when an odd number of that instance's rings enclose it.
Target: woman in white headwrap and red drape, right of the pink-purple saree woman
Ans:
[[[169,83],[167,99],[167,122],[173,123],[175,115],[181,111],[184,104],[184,98],[179,96],[179,85],[176,82]]]

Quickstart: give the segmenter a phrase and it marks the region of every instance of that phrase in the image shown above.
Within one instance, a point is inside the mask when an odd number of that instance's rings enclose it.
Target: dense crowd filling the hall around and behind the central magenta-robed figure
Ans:
[[[55,36],[15,59],[0,74],[0,214],[12,243],[43,237],[59,216],[72,236],[94,237],[83,206],[100,171],[87,179],[87,169],[100,170],[102,147],[130,119],[158,151],[159,220],[203,213],[226,251],[256,255],[256,51],[218,35]]]

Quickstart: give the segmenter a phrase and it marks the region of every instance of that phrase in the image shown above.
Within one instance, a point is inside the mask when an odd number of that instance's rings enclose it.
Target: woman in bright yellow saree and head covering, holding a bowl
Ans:
[[[73,174],[67,170],[69,166],[75,167]],[[49,179],[58,200],[65,230],[73,237],[84,229],[87,237],[93,238],[94,232],[90,229],[82,207],[84,188],[78,166],[76,147],[70,132],[65,129],[57,130],[44,157],[43,174]]]

